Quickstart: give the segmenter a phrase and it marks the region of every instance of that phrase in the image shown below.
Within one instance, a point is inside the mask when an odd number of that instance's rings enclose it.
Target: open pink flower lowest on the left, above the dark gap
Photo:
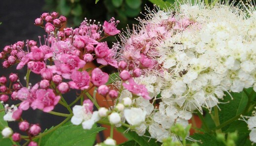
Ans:
[[[32,109],[40,109],[49,112],[58,104],[60,96],[55,96],[52,89],[38,89],[36,92],[36,100],[31,104]]]

